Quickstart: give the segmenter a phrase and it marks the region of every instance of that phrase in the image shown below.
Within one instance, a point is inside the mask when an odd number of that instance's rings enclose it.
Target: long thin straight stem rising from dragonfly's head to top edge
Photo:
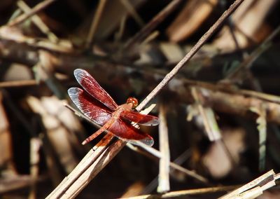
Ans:
[[[184,64],[186,64],[190,60],[190,58],[193,57],[195,53],[197,53],[198,50],[200,50],[202,45],[214,34],[218,27],[221,26],[221,24],[236,10],[236,8],[243,1],[244,0],[236,0],[235,3],[233,3],[230,8],[228,8],[228,10],[225,11],[223,15],[221,15],[221,18],[219,18],[214,23],[214,25],[212,25],[212,27],[202,36],[202,38],[197,41],[190,52],[185,57],[183,57],[183,59],[178,64],[176,64],[176,67],[174,67],[174,69],[172,69],[172,71],[170,71],[169,74],[167,74],[165,78],[163,78],[163,80],[154,88],[152,92],[150,92],[150,94],[141,102],[141,104],[139,104],[137,110],[143,109],[143,107],[145,107],[146,104],[148,104],[148,102],[150,102],[150,100],[153,99],[153,97],[155,97],[155,95],[157,95],[165,85],[167,85],[167,83],[177,74],[179,69],[181,69]]]

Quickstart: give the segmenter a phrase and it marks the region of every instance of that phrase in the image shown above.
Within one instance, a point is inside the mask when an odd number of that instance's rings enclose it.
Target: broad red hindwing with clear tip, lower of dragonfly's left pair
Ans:
[[[68,95],[85,116],[99,125],[104,125],[112,117],[109,109],[82,89],[69,88]]]

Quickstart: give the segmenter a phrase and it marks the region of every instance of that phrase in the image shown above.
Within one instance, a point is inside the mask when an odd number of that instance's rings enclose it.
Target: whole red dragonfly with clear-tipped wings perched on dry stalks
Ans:
[[[131,122],[140,125],[158,125],[158,117],[133,111],[138,105],[138,101],[134,97],[129,97],[126,104],[118,106],[99,83],[83,69],[76,69],[74,76],[85,90],[76,87],[69,88],[70,98],[85,116],[102,125],[102,128],[87,137],[82,144],[87,144],[102,132],[108,130],[116,137],[132,144],[137,144],[135,141],[140,141],[148,146],[153,145],[153,137],[134,128]]]

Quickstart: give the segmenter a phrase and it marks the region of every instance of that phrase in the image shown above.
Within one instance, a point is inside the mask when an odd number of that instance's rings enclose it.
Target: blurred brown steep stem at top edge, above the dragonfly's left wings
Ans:
[[[101,19],[101,16],[102,16],[105,4],[106,4],[106,0],[99,0],[97,11],[96,11],[96,13],[94,15],[94,18],[92,20],[92,25],[90,27],[90,32],[87,35],[87,46],[86,46],[87,48],[89,48],[90,45],[92,44],[92,41],[93,41],[93,38],[94,38],[94,34],[97,31],[97,27],[99,25],[99,22],[100,22],[100,19]]]

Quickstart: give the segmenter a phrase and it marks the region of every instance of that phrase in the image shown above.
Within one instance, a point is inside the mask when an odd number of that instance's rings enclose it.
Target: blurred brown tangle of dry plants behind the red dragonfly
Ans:
[[[1,0],[0,196],[45,198],[97,143],[80,144],[97,128],[64,107],[66,90],[78,86],[74,69],[118,104],[141,102],[233,2]],[[170,191],[279,170],[279,9],[277,0],[244,0],[153,98],[170,160],[207,179],[171,169]],[[158,127],[141,130],[159,149]],[[78,198],[156,193],[158,173],[158,160],[125,147]],[[277,195],[274,186],[259,198]]]

